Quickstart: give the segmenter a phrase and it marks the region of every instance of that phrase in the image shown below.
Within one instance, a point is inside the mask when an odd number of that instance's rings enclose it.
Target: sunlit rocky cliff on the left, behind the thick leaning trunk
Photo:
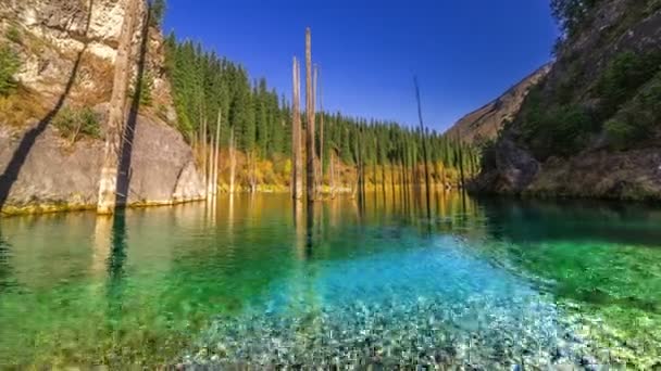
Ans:
[[[129,205],[201,197],[192,151],[174,128],[162,35],[147,22],[135,35],[144,51],[140,100],[132,125]],[[17,89],[0,97],[0,206],[3,214],[86,208],[96,204],[105,102],[123,21],[119,0],[3,0],[0,43],[18,56]],[[147,34],[146,48],[141,35]],[[134,86],[136,81],[134,81]],[[62,117],[91,112],[99,133],[70,138]],[[91,116],[90,116],[91,115]],[[89,121],[89,120],[88,120]],[[97,123],[98,121],[98,123]],[[93,128],[89,129],[93,133]],[[77,132],[77,129],[76,129]],[[76,139],[77,138],[77,139]]]

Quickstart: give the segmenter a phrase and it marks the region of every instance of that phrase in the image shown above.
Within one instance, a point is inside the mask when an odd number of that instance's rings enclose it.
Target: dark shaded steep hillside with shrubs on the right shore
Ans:
[[[661,2],[553,5],[557,62],[485,150],[473,191],[661,200]]]

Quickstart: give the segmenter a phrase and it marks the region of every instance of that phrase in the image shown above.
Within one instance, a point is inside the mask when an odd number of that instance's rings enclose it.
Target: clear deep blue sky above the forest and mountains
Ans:
[[[265,77],[287,99],[291,57],[321,65],[324,105],[348,115],[438,130],[550,60],[549,0],[167,0],[165,29],[201,41]]]

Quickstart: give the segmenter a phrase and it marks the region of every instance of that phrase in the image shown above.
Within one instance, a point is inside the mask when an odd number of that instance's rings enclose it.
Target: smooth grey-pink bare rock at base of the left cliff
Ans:
[[[17,151],[25,136],[25,130],[11,131],[0,126],[0,169],[20,155]],[[95,207],[102,153],[103,143],[99,140],[71,145],[54,128],[48,127],[20,164],[2,213]],[[202,181],[194,165],[192,151],[175,129],[140,116],[130,158],[129,206],[167,205],[202,197]]]

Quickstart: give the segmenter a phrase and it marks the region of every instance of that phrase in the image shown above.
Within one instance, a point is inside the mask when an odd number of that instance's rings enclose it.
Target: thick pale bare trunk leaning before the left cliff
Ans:
[[[115,60],[110,108],[108,113],[108,132],[103,149],[103,166],[99,181],[99,200],[97,213],[113,214],[117,202],[117,174],[120,166],[122,131],[126,119],[126,101],[130,80],[130,49],[138,17],[138,0],[126,0],[124,22],[120,35],[120,47]]]

